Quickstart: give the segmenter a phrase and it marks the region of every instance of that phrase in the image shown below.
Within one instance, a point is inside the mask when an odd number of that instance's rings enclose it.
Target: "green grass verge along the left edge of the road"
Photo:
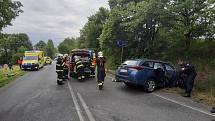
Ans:
[[[0,87],[5,86],[24,74],[25,72],[20,70],[18,66],[13,66],[12,72],[10,72],[8,68],[0,69]]]

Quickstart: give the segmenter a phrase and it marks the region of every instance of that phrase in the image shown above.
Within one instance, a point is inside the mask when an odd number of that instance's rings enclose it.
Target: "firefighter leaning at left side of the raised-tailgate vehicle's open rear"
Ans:
[[[74,59],[75,59],[75,66],[76,66],[76,72],[77,72],[78,80],[82,80],[85,78],[85,76],[84,76],[84,65],[78,56],[74,56]]]

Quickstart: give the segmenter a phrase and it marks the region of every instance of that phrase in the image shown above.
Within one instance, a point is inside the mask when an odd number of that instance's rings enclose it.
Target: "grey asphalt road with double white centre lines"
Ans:
[[[0,121],[213,121],[210,107],[190,99],[95,79],[57,86],[54,65],[31,71],[0,89]]]

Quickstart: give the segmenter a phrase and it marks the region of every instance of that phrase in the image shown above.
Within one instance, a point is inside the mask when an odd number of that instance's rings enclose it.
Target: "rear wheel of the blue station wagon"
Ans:
[[[146,81],[144,90],[148,93],[154,92],[156,88],[156,83],[154,79],[149,79]]]

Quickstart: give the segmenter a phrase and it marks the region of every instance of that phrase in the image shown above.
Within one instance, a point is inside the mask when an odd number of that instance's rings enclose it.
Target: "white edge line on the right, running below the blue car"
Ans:
[[[155,94],[155,93],[152,93],[152,95],[157,96],[157,97],[160,97],[160,98],[165,99],[165,100],[167,100],[167,101],[170,101],[170,102],[176,103],[176,104],[178,104],[178,105],[181,105],[181,106],[184,106],[184,107],[190,108],[190,109],[192,109],[192,110],[195,110],[195,111],[201,112],[201,113],[203,113],[203,114],[206,114],[206,115],[210,115],[210,116],[215,117],[215,115],[214,115],[214,114],[211,114],[211,113],[209,113],[209,112],[203,111],[203,110],[201,110],[201,109],[199,109],[199,108],[191,107],[191,106],[186,105],[186,104],[184,104],[184,103],[178,102],[178,101],[173,100],[173,99],[170,99],[170,98],[163,97],[163,96],[158,95],[158,94]]]

